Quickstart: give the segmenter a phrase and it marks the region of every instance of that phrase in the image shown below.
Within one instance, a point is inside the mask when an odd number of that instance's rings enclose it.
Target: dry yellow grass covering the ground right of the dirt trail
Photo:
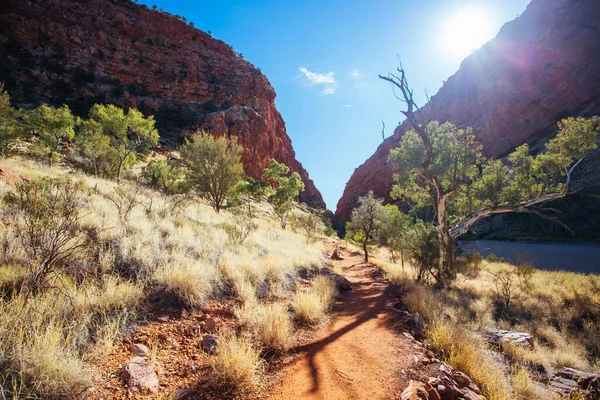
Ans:
[[[600,277],[567,272],[536,271],[526,279],[515,276],[509,309],[501,307],[494,276],[514,270],[503,263],[483,262],[477,274],[460,274],[444,289],[417,284],[410,265],[384,260],[376,264],[394,283],[405,288],[403,298],[411,311],[420,312],[427,324],[426,336],[445,361],[470,375],[490,399],[552,399],[543,384],[525,368],[513,373],[491,356],[489,346],[477,334],[489,329],[529,332],[533,350],[504,345],[508,359],[523,365],[543,365],[547,370],[573,367],[598,371]],[[471,271],[472,272],[472,271]]]

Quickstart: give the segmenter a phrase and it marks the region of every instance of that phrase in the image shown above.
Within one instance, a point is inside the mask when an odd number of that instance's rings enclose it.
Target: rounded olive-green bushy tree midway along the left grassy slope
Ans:
[[[190,188],[219,212],[244,176],[242,146],[226,137],[201,132],[186,140],[180,153],[189,169]]]

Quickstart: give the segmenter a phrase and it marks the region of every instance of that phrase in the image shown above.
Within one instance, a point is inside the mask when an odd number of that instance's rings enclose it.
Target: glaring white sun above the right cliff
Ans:
[[[485,9],[457,10],[442,23],[441,45],[447,54],[464,58],[494,37],[492,18]]]

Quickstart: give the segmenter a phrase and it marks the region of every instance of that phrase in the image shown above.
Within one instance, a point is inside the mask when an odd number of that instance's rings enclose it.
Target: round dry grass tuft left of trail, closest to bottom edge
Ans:
[[[219,336],[217,342],[217,354],[210,360],[213,384],[229,392],[256,388],[265,367],[258,349],[236,336]]]

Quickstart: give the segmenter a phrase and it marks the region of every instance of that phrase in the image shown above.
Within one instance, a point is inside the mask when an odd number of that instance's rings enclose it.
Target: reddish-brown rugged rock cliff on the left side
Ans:
[[[207,129],[237,136],[246,173],[275,158],[325,207],[296,160],[267,78],[229,45],[170,14],[128,0],[6,0],[0,8],[0,82],[17,106],[94,103],[155,115],[163,141]]]

